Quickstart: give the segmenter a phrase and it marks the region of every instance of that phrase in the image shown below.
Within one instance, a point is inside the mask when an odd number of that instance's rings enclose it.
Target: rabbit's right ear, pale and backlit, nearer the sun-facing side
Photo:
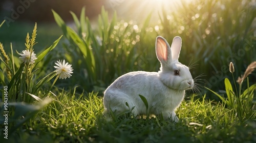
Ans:
[[[172,58],[173,60],[179,59],[181,49],[181,38],[179,36],[174,37],[172,46],[170,46],[170,50],[172,51]]]

